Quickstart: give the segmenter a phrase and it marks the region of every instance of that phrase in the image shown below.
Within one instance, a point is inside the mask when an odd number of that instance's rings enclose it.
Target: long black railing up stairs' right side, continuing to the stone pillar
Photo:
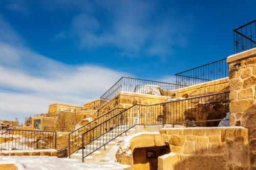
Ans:
[[[155,105],[134,105],[82,134],[82,161],[135,125],[215,127],[229,124],[229,92]]]

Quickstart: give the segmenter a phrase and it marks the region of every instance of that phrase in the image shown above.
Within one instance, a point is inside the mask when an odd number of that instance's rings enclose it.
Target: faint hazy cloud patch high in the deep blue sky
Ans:
[[[121,56],[166,57],[175,46],[186,44],[190,19],[158,13],[154,2],[99,1],[93,6],[103,11],[103,19],[81,10],[72,22],[72,32],[83,48],[114,46]]]

